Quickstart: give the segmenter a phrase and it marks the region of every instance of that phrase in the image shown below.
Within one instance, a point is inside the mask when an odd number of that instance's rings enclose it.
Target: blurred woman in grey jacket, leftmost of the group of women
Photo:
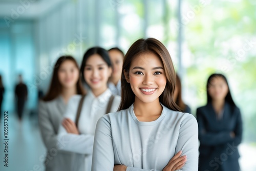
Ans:
[[[38,108],[41,137],[47,148],[46,171],[72,170],[72,160],[78,154],[57,151],[57,134],[68,100],[73,95],[84,93],[76,60],[72,56],[59,57],[54,66],[48,93],[39,101]]]

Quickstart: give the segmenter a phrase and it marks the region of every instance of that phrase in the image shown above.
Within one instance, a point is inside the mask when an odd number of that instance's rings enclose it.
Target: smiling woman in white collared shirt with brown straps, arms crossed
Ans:
[[[73,170],[91,171],[93,141],[96,123],[106,114],[111,91],[108,89],[108,79],[111,76],[111,60],[103,48],[89,49],[83,56],[80,72],[83,81],[90,87],[83,102],[76,127],[75,119],[81,95],[73,96],[67,106],[65,118],[59,128],[59,141],[63,142],[61,150],[83,154],[81,162]],[[114,96],[110,112],[117,111],[120,97]]]

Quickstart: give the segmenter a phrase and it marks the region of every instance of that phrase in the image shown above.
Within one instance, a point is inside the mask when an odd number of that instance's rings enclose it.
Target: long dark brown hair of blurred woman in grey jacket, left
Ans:
[[[61,64],[66,60],[71,60],[72,62],[74,62],[76,68],[79,71],[79,67],[77,65],[77,62],[72,56],[61,56],[61,57],[59,57],[58,60],[55,63],[55,66],[54,66],[50,88],[48,90],[48,93],[46,94],[46,96],[44,98],[42,98],[42,100],[50,101],[50,100],[53,100],[53,99],[55,99],[56,97],[58,97],[60,95],[61,90],[62,90],[61,89],[62,86],[59,82],[58,71],[59,71],[59,68],[60,68]],[[82,87],[80,77],[78,78],[78,81],[76,82],[76,90],[77,90],[77,94],[85,94],[85,91]]]

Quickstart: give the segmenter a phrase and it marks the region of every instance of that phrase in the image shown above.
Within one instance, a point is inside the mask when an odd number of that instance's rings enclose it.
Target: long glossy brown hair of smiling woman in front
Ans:
[[[119,110],[129,108],[135,101],[135,94],[132,91],[130,83],[125,80],[124,72],[129,73],[131,63],[135,57],[148,52],[156,54],[161,59],[166,74],[166,86],[163,93],[159,96],[159,101],[170,110],[180,111],[173,99],[176,81],[173,61],[165,46],[155,38],[138,39],[124,56],[121,76],[121,104]]]

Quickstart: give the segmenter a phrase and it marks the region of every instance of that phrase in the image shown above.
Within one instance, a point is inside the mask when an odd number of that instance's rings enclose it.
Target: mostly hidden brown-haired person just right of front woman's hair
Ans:
[[[175,87],[175,90],[174,90],[174,101],[180,107],[182,112],[191,114],[191,109],[182,100],[181,80],[180,80],[177,73],[176,73],[176,87]]]

